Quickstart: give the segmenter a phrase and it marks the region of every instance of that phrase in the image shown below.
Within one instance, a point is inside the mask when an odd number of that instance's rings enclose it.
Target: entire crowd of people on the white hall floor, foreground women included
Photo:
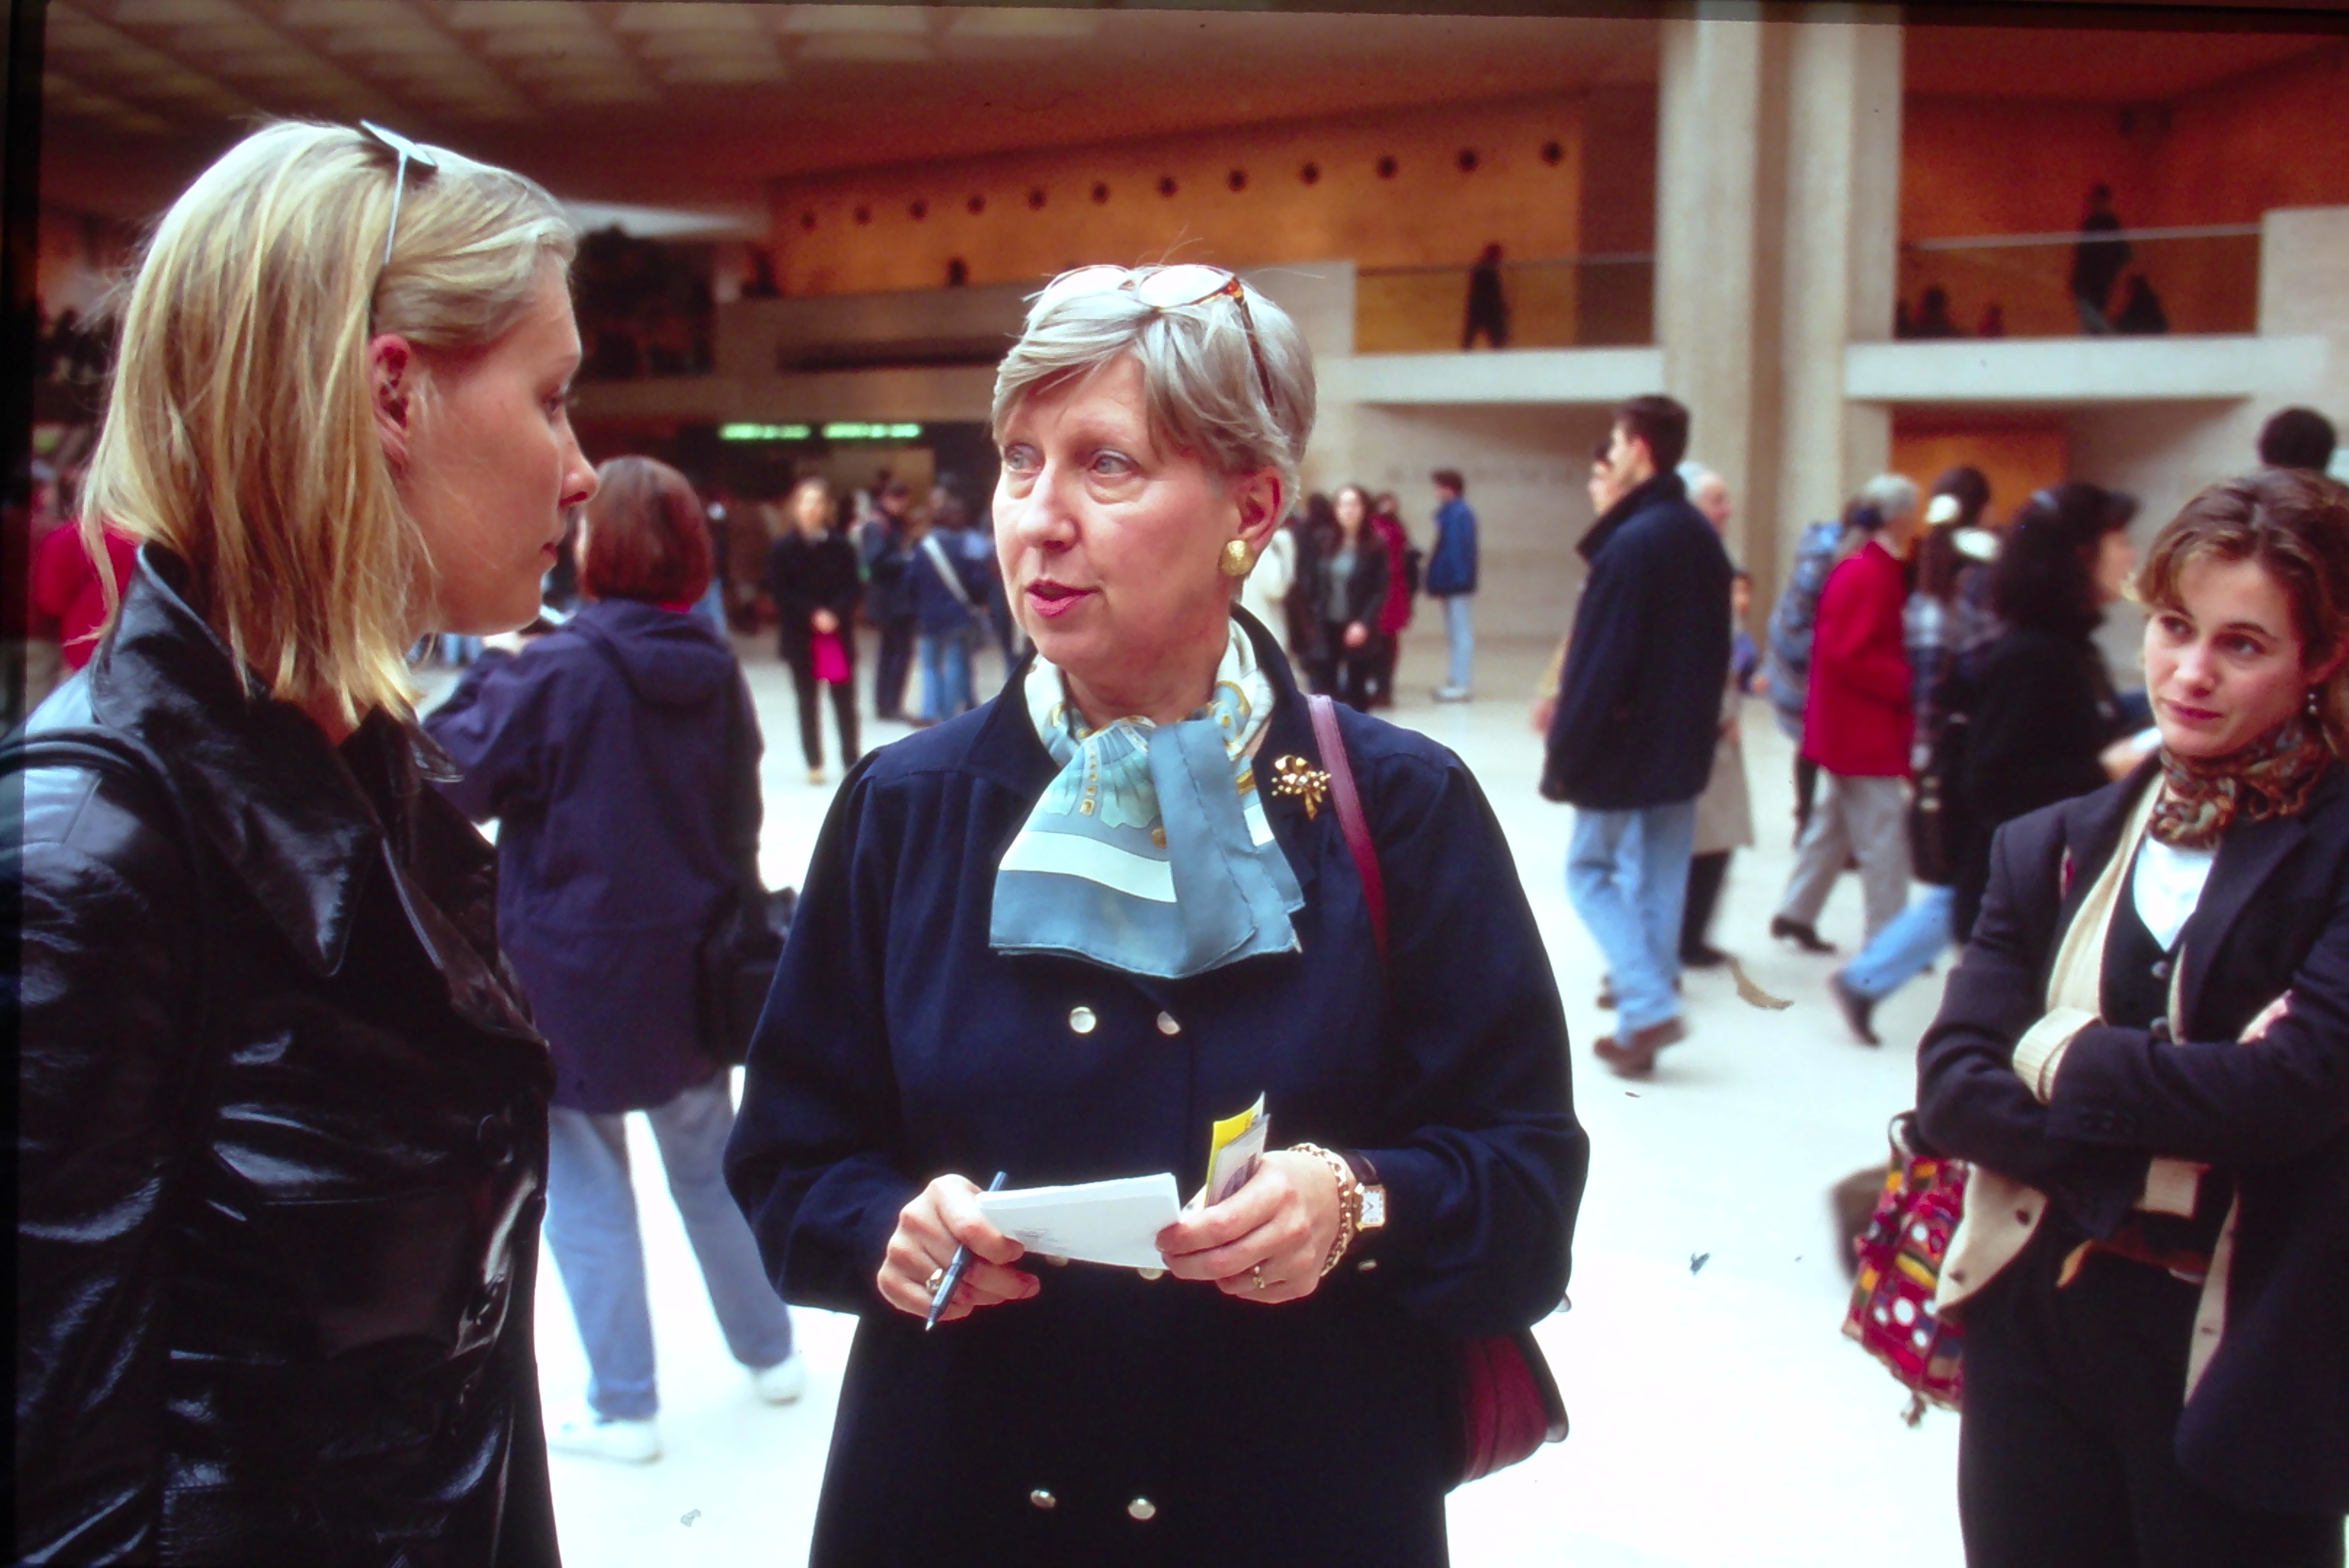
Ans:
[[[547,1448],[660,1453],[622,1131],[648,1113],[759,1399],[806,1385],[785,1303],[860,1317],[815,1563],[1123,1561],[1135,1530],[1445,1561],[1447,1491],[1564,1434],[1529,1331],[1588,1171],[1485,791],[1369,711],[1416,592],[1435,697],[1473,690],[1463,477],[1431,477],[1421,561],[1398,498],[1299,500],[1313,361],[1273,300],[1200,265],[1052,279],[998,369],[989,507],[801,479],[759,540],[810,777],[827,699],[862,756],[860,617],[876,716],[916,732],[834,796],[731,1040],[716,939],[763,897],[735,542],[677,469],[580,451],[554,200],[418,153],[275,124],[179,197],[59,533],[87,667],[0,758],[19,1556],[557,1563]],[[1858,871],[1867,944],[1823,979],[1867,1042],[1961,946],[1919,1127],[1983,1195],[1940,1286],[1971,1561],[2337,1568],[2330,425],[2271,420],[2142,568],[2135,502],[2093,484],[2001,521],[1976,469],[1870,479],[1802,535],[1766,662],[1689,439],[1670,397],[1614,411],[1536,704],[1618,1014],[1593,1052],[1651,1075],[1682,967],[1727,960],[1766,690],[1799,798],[1771,934],[1832,953]],[[2142,692],[2093,641],[2128,592]],[[484,653],[418,718],[428,634]],[[982,704],[972,655],[1015,636]],[[1297,1141],[1221,1171],[1207,1122],[1250,1101]],[[977,1181],[1137,1169],[1196,1192],[1139,1268],[1031,1251]],[[590,1361],[552,1425],[540,1232]]]

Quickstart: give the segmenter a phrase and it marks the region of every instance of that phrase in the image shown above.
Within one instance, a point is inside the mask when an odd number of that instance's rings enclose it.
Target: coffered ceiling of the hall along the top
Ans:
[[[756,225],[785,174],[1642,87],[1656,40],[1637,16],[49,0],[42,197],[136,218],[258,117],[366,117],[561,197]],[[2156,103],[2333,42],[1919,26],[1907,82]]]

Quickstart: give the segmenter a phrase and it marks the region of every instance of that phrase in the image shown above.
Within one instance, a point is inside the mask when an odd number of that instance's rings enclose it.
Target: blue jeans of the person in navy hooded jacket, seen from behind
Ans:
[[[775,1366],[792,1354],[792,1312],[759,1268],[759,1244],[726,1190],[728,1075],[686,1089],[646,1117],[726,1350],[742,1366]],[[547,1110],[547,1251],[587,1347],[587,1406],[615,1420],[646,1420],[660,1408],[660,1390],[625,1127],[625,1115]]]

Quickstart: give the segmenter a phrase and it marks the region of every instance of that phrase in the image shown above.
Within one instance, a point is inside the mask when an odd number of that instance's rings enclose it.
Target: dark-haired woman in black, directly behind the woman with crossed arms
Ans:
[[[2006,631],[1983,657],[1966,730],[1961,791],[1978,838],[1952,883],[1959,941],[1983,906],[1990,833],[2112,782],[2102,756],[2123,721],[2095,629],[2138,566],[2135,514],[2135,500],[2093,484],[2034,491],[1990,568],[1990,608]]]

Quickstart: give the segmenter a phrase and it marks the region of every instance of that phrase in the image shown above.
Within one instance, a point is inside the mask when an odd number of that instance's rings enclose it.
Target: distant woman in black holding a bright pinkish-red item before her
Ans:
[[[792,669],[799,699],[799,751],[808,784],[824,782],[824,728],[817,695],[832,695],[841,732],[841,768],[855,768],[857,744],[857,547],[834,533],[832,481],[792,486],[785,535],[766,552],[766,592],[775,599],[775,653]]]

